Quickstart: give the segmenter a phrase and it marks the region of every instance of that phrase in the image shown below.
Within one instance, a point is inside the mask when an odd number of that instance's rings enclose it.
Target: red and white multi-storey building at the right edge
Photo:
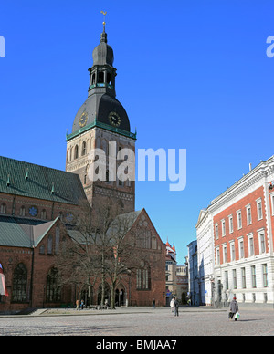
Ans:
[[[262,161],[208,207],[216,301],[274,303],[274,158]]]

